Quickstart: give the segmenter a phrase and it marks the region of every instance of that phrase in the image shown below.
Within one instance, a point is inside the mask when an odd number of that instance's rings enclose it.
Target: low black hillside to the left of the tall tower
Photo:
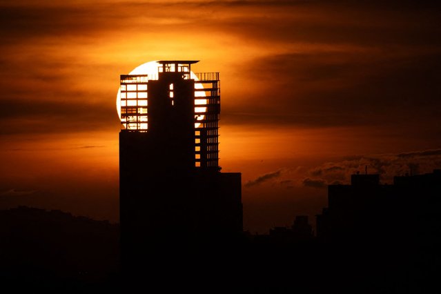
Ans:
[[[115,287],[119,225],[61,210],[0,210],[0,279],[17,292]]]

